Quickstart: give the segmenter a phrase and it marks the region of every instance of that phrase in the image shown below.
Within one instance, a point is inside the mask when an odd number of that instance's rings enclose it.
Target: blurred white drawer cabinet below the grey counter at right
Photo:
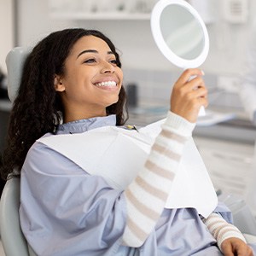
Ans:
[[[246,199],[247,190],[254,177],[254,145],[207,137],[195,137],[195,144],[215,189]]]

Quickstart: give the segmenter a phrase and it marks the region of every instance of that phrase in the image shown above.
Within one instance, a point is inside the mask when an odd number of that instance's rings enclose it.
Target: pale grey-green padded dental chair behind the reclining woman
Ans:
[[[12,49],[6,58],[8,69],[8,94],[14,102],[20,84],[22,68],[30,50],[17,47]],[[232,202],[234,203],[234,202]],[[20,177],[12,177],[3,189],[0,201],[0,234],[6,256],[35,256],[32,248],[26,242],[20,229]],[[229,206],[228,206],[229,207]],[[241,218],[240,218],[241,219]],[[236,224],[236,223],[235,223]],[[243,228],[243,224],[236,224]],[[244,233],[247,230],[241,229]],[[253,234],[256,235],[256,234]],[[247,242],[256,242],[256,236],[244,234]]]

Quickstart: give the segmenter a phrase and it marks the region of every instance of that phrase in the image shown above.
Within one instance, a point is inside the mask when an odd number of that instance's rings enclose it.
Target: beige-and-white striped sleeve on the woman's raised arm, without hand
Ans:
[[[169,112],[143,170],[125,189],[127,220],[123,243],[140,247],[154,229],[177,174],[184,143],[195,124]]]

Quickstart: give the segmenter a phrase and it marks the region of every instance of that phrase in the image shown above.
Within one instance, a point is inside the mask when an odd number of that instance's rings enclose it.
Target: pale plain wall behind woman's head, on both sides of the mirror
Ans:
[[[8,0],[5,0],[7,2]],[[233,25],[222,18],[221,2],[214,0],[218,17],[207,25],[210,53],[202,68],[207,73],[236,74],[241,71],[247,46],[247,35],[253,23],[256,2],[249,1],[249,20],[245,25]],[[175,67],[160,54],[151,36],[149,20],[51,20],[48,1],[19,1],[19,44],[34,44],[45,34],[67,26],[96,28],[105,32],[122,51],[124,67],[154,70],[173,70]]]

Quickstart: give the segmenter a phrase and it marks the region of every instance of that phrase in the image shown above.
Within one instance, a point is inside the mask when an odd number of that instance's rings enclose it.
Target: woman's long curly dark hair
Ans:
[[[64,111],[61,98],[55,91],[55,74],[63,75],[64,64],[73,45],[84,36],[102,38],[121,67],[119,54],[113,43],[102,32],[82,28],[52,32],[40,41],[26,58],[9,119],[7,146],[3,151],[3,179],[20,175],[27,151],[47,132],[55,133]],[[116,114],[117,124],[124,125],[128,118],[125,89],[119,92],[119,101],[109,106],[107,114]],[[14,173],[13,171],[16,170]]]

